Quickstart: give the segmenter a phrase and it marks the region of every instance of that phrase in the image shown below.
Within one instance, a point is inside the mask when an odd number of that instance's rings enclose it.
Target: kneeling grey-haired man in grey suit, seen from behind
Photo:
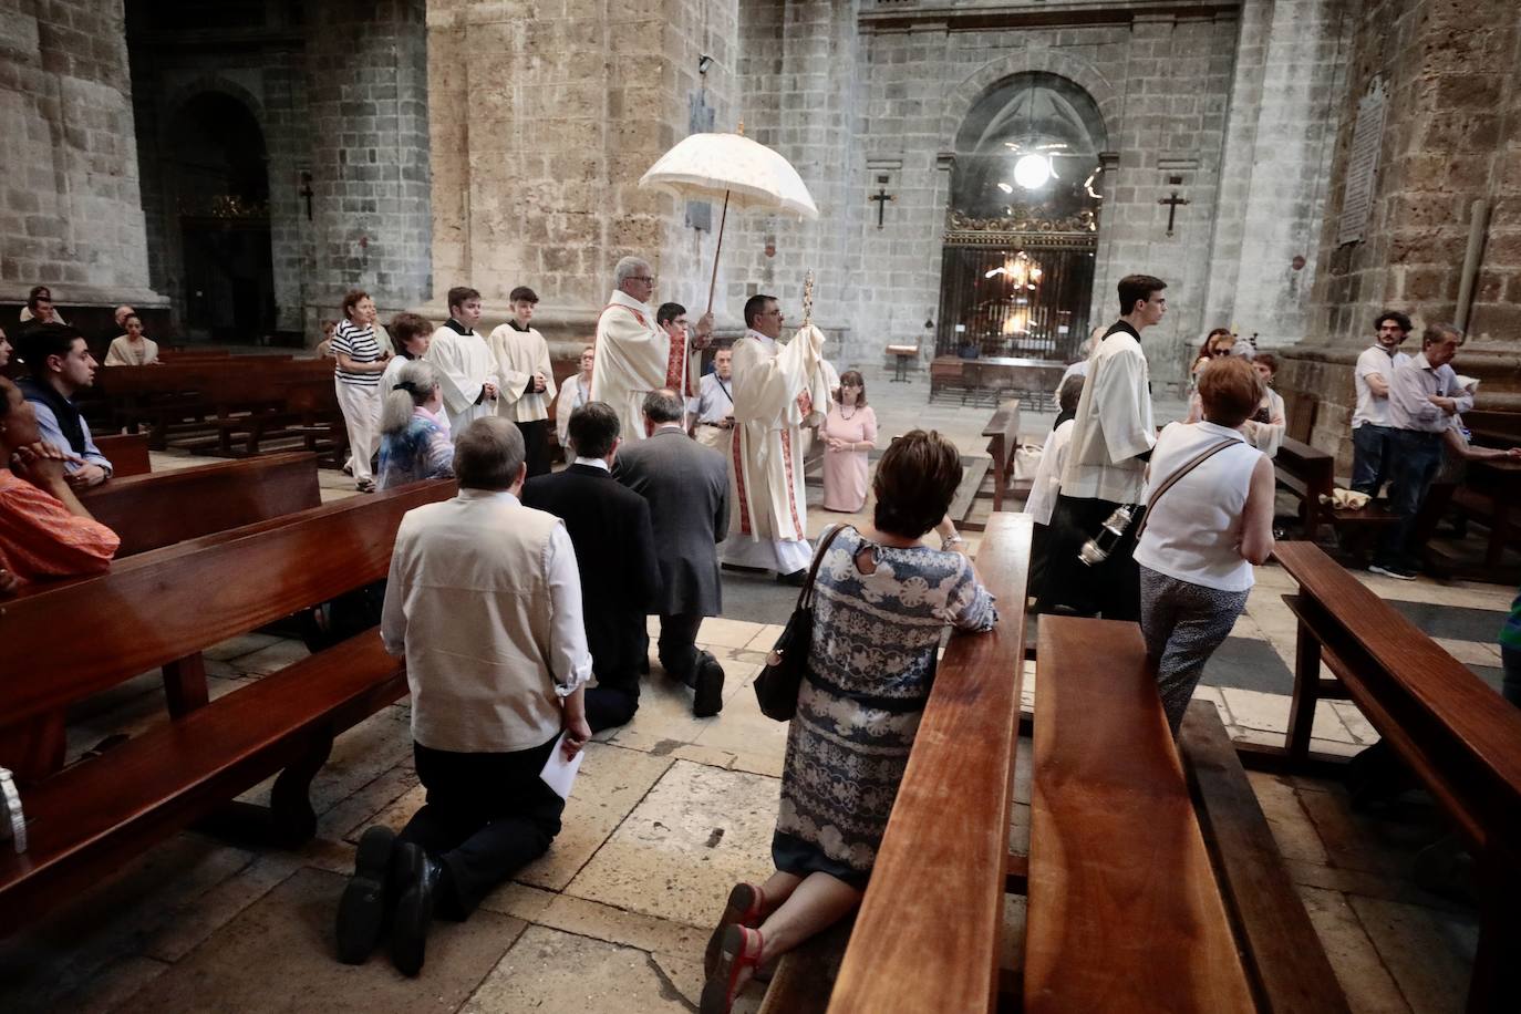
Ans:
[[[722,611],[718,543],[729,534],[729,462],[703,447],[681,426],[681,398],[669,388],[645,395],[645,433],[624,447],[613,471],[649,502],[660,590],[651,611],[660,616],[660,664],[694,687],[692,713],[724,707],[724,669],[698,651],[704,616]]]

